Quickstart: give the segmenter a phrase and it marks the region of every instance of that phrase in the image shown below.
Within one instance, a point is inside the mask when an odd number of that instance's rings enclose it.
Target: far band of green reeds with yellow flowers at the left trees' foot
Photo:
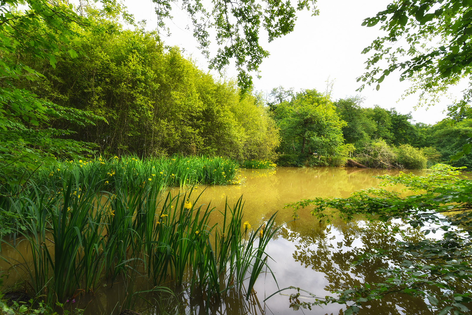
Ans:
[[[52,190],[62,193],[68,178],[73,178],[76,183],[74,193],[80,195],[82,186],[95,193],[105,191],[113,194],[123,185],[132,191],[140,191],[152,183],[154,189],[163,191],[167,187],[192,187],[198,184],[239,184],[241,180],[238,175],[239,164],[223,157],[96,157],[58,161],[53,166],[25,173],[20,180],[0,187],[0,198],[19,196],[20,192],[22,196],[25,192],[36,194],[35,190],[38,189],[47,193]],[[0,200],[0,205],[2,202],[9,201]],[[8,211],[8,207],[4,209],[0,206],[0,236],[15,233],[17,230],[11,230],[11,225],[18,227],[16,216]]]

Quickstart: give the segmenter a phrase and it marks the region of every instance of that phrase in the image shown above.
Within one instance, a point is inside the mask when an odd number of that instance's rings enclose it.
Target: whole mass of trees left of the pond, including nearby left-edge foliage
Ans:
[[[157,33],[123,30],[119,17],[134,22],[114,1],[81,16],[62,2],[18,4],[0,9],[2,182],[91,149],[276,157],[278,130],[257,96],[216,82]],[[279,26],[274,36],[289,31]]]

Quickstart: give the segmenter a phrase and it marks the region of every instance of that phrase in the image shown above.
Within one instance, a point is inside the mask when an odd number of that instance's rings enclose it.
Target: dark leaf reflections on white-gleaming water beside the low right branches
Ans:
[[[403,254],[397,245],[398,239],[382,231],[382,225],[363,221],[349,223],[336,222],[333,225],[314,224],[311,231],[281,229],[281,236],[295,244],[293,258],[305,268],[311,268],[325,274],[329,285],[325,290],[346,290],[363,283],[381,283],[382,274],[375,271],[382,268],[399,266],[399,261],[369,259],[360,265],[352,265],[364,252],[373,249],[388,251],[390,256]],[[417,229],[407,230],[404,240],[422,238]],[[296,285],[296,283],[294,283]],[[433,288],[439,291],[439,288]],[[330,293],[327,293],[329,295]],[[432,314],[423,298],[407,294],[388,294],[381,300],[371,301],[362,306],[362,314]],[[340,311],[340,314],[342,312]]]

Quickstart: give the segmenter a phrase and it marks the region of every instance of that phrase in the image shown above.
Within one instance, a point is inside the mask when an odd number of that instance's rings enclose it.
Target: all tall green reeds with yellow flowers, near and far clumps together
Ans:
[[[195,207],[200,195],[193,190],[162,194],[167,185],[232,181],[237,165],[231,161],[115,157],[62,166],[57,173],[37,175],[28,189],[18,187],[17,194],[0,197],[0,211],[13,220],[0,243],[28,243],[32,258],[11,261],[12,268],[23,269],[30,293],[45,297],[49,305],[95,291],[103,277],[113,283],[118,276],[130,280],[136,274],[155,288],[171,282],[210,302],[232,288],[241,290],[245,279],[249,294],[267,266],[265,247],[277,230],[275,215],[251,229],[243,223],[240,198],[221,210],[223,224],[210,225],[217,210]],[[133,296],[132,283],[128,287]]]

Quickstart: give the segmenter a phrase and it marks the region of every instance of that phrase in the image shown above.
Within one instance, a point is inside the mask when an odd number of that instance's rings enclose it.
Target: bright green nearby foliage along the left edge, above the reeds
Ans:
[[[0,182],[18,169],[36,169],[54,162],[54,155],[76,155],[90,145],[69,139],[74,133],[67,124],[93,124],[101,119],[91,112],[59,106],[38,97],[29,87],[43,77],[40,68],[29,66],[25,56],[55,67],[57,55],[76,58],[71,37],[86,21],[64,3],[43,0],[21,2],[27,11],[17,11],[16,0],[0,7]],[[18,80],[28,82],[19,86]]]

